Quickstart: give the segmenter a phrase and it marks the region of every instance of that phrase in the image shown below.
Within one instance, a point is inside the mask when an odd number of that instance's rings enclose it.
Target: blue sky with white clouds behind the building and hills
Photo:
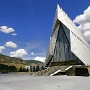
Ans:
[[[84,11],[88,9],[90,0],[0,0],[0,53],[43,61],[57,3],[79,24],[79,29],[85,28],[81,27],[84,19],[80,15],[86,15]],[[82,32],[89,41],[90,32],[85,33],[85,30]]]

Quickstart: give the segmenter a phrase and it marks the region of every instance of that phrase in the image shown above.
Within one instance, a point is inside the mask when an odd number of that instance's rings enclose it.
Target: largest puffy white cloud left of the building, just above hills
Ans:
[[[24,55],[27,55],[27,52],[24,49],[18,49],[10,52],[10,57],[23,57]]]

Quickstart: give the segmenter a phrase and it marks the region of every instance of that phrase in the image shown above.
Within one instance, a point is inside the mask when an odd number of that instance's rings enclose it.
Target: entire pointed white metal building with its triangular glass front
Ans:
[[[90,46],[67,14],[57,5],[45,66],[90,65]]]

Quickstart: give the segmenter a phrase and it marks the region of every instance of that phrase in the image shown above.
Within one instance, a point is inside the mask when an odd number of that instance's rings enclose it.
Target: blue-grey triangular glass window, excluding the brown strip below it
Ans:
[[[70,46],[70,42],[69,42],[70,40],[68,40],[63,26],[64,25],[62,23],[60,23],[57,40],[56,40],[56,44],[55,44],[53,62],[79,60],[71,52],[71,46]],[[66,30],[68,30],[68,29],[66,29]],[[76,35],[75,35],[75,37],[76,37]],[[69,35],[69,38],[70,38],[70,35]],[[78,63],[81,63],[81,61],[79,60]]]

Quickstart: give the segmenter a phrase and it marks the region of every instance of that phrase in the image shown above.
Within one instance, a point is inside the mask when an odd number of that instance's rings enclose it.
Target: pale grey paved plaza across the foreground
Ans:
[[[90,77],[0,74],[0,90],[90,90]]]

